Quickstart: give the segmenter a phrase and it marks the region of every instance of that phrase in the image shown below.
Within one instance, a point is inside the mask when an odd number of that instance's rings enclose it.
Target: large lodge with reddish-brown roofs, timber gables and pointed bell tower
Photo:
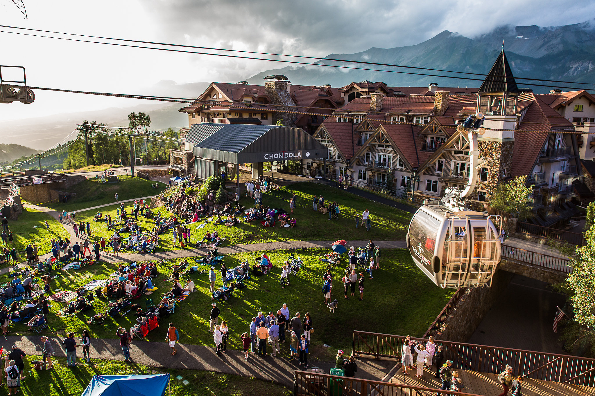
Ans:
[[[591,106],[593,104],[594,106]],[[469,147],[458,122],[481,111],[485,135],[472,200],[489,202],[499,182],[528,175],[536,216],[552,226],[595,198],[595,97],[586,91],[535,94],[519,88],[504,51],[480,88],[389,87],[362,81],[341,88],[297,85],[283,75],[264,85],[211,83],[188,115],[184,138],[196,123],[242,123],[302,128],[327,147],[326,159],[301,160],[305,175],[386,188],[403,197],[436,198],[468,180]],[[303,113],[315,113],[303,114]],[[583,135],[571,132],[584,132]],[[191,172],[192,151],[172,150],[173,172]]]

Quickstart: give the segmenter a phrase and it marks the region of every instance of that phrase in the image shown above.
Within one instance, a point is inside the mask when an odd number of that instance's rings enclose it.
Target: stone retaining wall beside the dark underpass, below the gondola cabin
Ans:
[[[497,302],[500,294],[511,282],[512,277],[512,273],[498,270],[493,276],[491,287],[467,289],[434,338],[466,343],[480,325],[487,311]]]

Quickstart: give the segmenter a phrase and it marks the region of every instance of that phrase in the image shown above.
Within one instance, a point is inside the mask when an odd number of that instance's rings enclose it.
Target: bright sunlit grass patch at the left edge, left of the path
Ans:
[[[46,220],[49,223],[49,230],[43,224]],[[8,227],[14,235],[14,247],[17,249],[18,258],[23,260],[27,259],[25,248],[29,243],[35,243],[39,255],[42,255],[52,250],[51,239],[68,236],[66,230],[61,227],[60,221],[49,214],[28,208],[23,208],[23,213],[18,216],[17,221],[8,220]],[[9,244],[8,249],[12,249],[12,245]],[[4,267],[7,266],[8,264],[4,265]]]

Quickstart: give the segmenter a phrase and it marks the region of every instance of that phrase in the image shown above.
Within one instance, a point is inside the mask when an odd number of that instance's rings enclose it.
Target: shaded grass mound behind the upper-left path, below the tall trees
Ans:
[[[165,185],[158,183],[159,188],[151,188],[151,180],[135,178],[133,176],[118,176],[120,183],[99,183],[99,179],[87,179],[68,189],[69,192],[76,192],[76,197],[68,203],[51,202],[46,206],[58,211],[73,211],[89,208],[98,205],[115,203],[114,194],[118,193],[118,200],[149,197],[161,194]]]

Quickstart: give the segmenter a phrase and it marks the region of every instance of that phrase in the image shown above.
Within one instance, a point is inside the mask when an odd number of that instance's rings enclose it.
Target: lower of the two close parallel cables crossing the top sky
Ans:
[[[83,42],[83,43],[104,44],[104,45],[113,45],[113,46],[119,46],[119,47],[154,49],[154,50],[168,51],[168,52],[193,53],[193,54],[197,54],[197,55],[223,56],[225,58],[250,59],[250,60],[256,60],[256,61],[281,62],[281,63],[286,63],[286,64],[321,66],[321,67],[364,70],[364,71],[377,71],[377,72],[396,73],[396,74],[422,75],[425,77],[454,78],[456,80],[466,80],[466,81],[482,81],[482,82],[484,81],[484,78],[471,78],[471,77],[458,77],[458,76],[454,76],[454,75],[414,73],[414,72],[386,70],[386,69],[359,68],[359,67],[355,67],[355,66],[312,64],[309,62],[285,61],[282,59],[280,60],[280,59],[256,58],[254,56],[226,55],[223,53],[208,53],[208,52],[197,52],[197,51],[188,51],[188,50],[180,50],[180,49],[170,49],[170,48],[145,47],[145,46],[137,46],[137,45],[129,45],[129,44],[105,43],[105,42],[96,42],[96,41],[81,40],[81,39],[67,39],[65,37],[52,37],[52,36],[43,36],[40,34],[18,33],[16,31],[0,30],[0,33],[20,34],[21,36],[45,37],[47,39],[57,39],[57,40],[67,40],[67,41]],[[347,62],[350,62],[350,61],[347,61]],[[538,80],[538,81],[541,81],[541,80]],[[579,84],[579,83],[571,83],[571,84]],[[584,89],[584,88],[566,87],[566,86],[560,86],[560,85],[544,85],[544,84],[529,84],[529,83],[524,83],[523,85],[531,85],[533,87],[546,87],[546,88],[565,88],[565,89],[572,89],[572,90],[583,90]]]

